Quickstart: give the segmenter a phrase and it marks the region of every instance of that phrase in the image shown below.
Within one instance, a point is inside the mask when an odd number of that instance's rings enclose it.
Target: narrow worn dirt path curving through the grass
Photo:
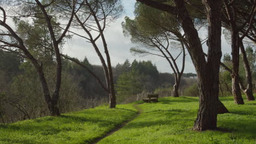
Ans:
[[[96,140],[95,140],[94,142],[92,142],[91,144],[96,144],[97,142],[101,141],[101,140],[104,139],[105,137],[114,134],[115,131],[120,130],[120,129],[123,128],[126,124],[130,123],[131,121],[133,121],[133,119],[137,118],[137,117],[142,113],[142,110],[139,109],[139,107],[138,107],[137,105],[139,105],[139,104],[133,105],[133,106],[135,107],[135,109],[137,109],[137,111],[138,111],[137,114],[136,114],[133,118],[131,118],[129,121],[124,122],[123,124],[119,125],[117,128],[115,128],[115,129],[109,131],[105,136],[99,137],[98,139],[96,139]]]

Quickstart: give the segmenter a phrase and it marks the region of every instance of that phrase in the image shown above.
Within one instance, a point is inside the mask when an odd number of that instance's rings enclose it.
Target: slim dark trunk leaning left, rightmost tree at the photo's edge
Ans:
[[[241,49],[241,53],[242,53],[242,57],[243,57],[243,65],[245,67],[245,71],[246,71],[246,81],[247,81],[247,87],[245,89],[245,94],[247,97],[247,100],[255,100],[254,96],[253,96],[253,85],[252,85],[252,72],[250,69],[250,65],[247,59],[247,55],[246,55],[246,51],[245,51],[245,47],[243,46],[242,40],[241,40],[241,44],[240,44],[240,49]]]

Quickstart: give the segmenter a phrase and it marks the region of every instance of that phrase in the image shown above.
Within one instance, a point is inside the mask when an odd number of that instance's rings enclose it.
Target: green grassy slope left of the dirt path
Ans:
[[[42,117],[13,124],[0,124],[0,143],[88,143],[136,115],[132,106],[118,105]]]

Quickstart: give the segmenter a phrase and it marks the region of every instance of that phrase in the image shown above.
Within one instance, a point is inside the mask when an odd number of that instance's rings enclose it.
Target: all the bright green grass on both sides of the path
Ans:
[[[0,125],[0,143],[91,143],[121,123],[142,113],[123,128],[98,143],[256,143],[256,101],[235,105],[232,97],[220,98],[230,113],[218,115],[219,131],[192,131],[198,98],[161,98],[159,103],[142,101],[107,106],[61,117],[43,117]]]

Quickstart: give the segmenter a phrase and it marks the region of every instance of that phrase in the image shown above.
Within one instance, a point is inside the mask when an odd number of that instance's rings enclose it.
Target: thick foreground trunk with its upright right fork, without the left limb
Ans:
[[[220,1],[203,0],[208,26],[208,61],[205,75],[199,75],[200,106],[194,130],[217,128],[219,110],[219,67],[221,50]],[[202,73],[202,71],[201,71]]]

